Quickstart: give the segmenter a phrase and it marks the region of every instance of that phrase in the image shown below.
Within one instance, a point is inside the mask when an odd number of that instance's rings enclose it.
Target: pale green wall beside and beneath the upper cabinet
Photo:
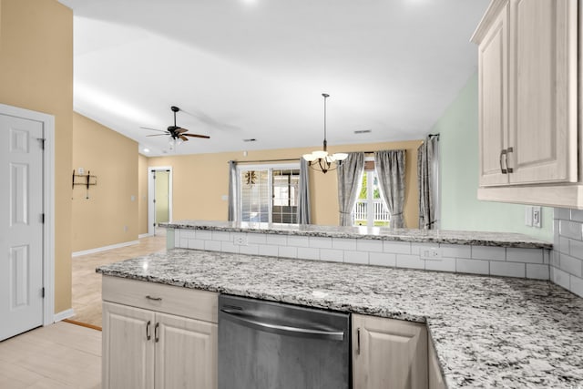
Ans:
[[[477,200],[477,73],[445,109],[431,133],[439,133],[441,229],[524,233],[553,241],[553,209],[543,208],[542,228],[527,227],[525,206]]]

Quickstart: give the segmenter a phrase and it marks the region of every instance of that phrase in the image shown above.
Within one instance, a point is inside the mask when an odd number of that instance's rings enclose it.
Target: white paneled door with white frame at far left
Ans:
[[[0,340],[54,322],[51,115],[0,104]]]

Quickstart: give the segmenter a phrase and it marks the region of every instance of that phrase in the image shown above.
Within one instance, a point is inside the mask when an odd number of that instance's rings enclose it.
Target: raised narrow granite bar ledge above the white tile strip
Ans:
[[[244,221],[181,220],[160,223],[162,227],[187,230],[255,232],[298,236],[357,238],[381,241],[414,241],[476,246],[552,249],[552,243],[527,235],[506,232],[387,229],[379,227],[339,227],[312,224],[253,223]]]

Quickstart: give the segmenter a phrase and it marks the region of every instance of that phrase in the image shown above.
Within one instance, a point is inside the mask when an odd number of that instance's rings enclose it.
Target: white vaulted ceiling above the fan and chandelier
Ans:
[[[322,92],[330,145],[424,138],[476,71],[489,0],[60,2],[75,15],[75,110],[155,156],[318,148]],[[170,106],[210,139],[146,137]]]

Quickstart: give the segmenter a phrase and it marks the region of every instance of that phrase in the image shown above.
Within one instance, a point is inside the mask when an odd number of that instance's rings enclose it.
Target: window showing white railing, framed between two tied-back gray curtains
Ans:
[[[391,214],[381,199],[381,188],[374,171],[373,161],[366,161],[361,192],[354,204],[353,220],[355,226],[388,227],[390,225]]]

